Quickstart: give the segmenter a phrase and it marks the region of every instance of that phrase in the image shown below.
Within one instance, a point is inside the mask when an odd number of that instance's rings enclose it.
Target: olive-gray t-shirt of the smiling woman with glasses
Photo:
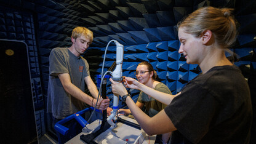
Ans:
[[[172,94],[172,92],[170,92],[170,89],[162,82],[156,84],[156,87],[154,87],[154,89],[158,90],[159,92],[164,92],[166,94]],[[138,102],[145,104],[145,113],[148,114],[148,116],[150,117],[158,114],[159,111],[163,110],[167,106],[164,105],[164,103],[161,103],[158,100],[154,99],[153,97],[148,98],[148,95],[142,91],[140,91],[140,94],[138,95]]]

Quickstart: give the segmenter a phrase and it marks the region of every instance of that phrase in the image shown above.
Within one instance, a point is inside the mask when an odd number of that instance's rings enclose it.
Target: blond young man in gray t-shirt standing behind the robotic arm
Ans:
[[[95,106],[97,102],[97,87],[90,78],[86,59],[81,57],[92,39],[92,31],[76,27],[71,35],[71,47],[57,47],[50,52],[47,112],[52,113],[54,122],[83,110],[85,103]],[[84,93],[85,83],[93,97]],[[109,103],[109,99],[99,98],[97,109],[106,110]]]

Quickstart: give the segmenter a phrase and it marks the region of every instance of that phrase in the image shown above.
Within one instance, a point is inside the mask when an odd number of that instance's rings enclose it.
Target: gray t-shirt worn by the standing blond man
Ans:
[[[57,74],[70,74],[74,86],[84,92],[84,78],[90,76],[86,59],[81,56],[76,57],[68,48],[57,47],[50,52],[49,66],[47,113],[52,113],[54,118],[63,119],[83,110],[85,104],[64,90]]]

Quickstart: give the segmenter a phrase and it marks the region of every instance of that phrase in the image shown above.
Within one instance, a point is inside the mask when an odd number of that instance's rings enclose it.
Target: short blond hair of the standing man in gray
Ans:
[[[80,36],[84,36],[87,39],[90,39],[90,43],[92,43],[94,39],[94,34],[92,33],[92,31],[82,26],[78,26],[74,28],[71,34],[71,38],[76,39],[76,38],[79,38]]]

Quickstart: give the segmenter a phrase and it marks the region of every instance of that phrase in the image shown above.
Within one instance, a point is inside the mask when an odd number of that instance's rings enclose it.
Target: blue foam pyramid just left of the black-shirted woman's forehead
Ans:
[[[176,39],[174,26],[158,27],[157,29],[162,41],[169,41],[169,40]]]

